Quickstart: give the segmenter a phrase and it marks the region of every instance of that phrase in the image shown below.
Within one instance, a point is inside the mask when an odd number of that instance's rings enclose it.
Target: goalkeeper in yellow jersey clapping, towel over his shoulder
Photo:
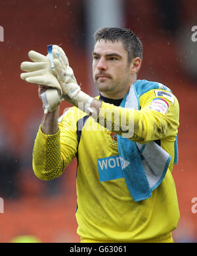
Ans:
[[[41,84],[45,108],[33,148],[35,175],[59,177],[77,158],[81,242],[173,242],[179,103],[163,84],[137,80],[141,41],[124,28],[95,33],[96,98],[81,91],[64,51],[53,46],[52,53],[55,69],[35,51],[33,62],[21,65],[22,79]],[[74,107],[59,117],[62,100]]]

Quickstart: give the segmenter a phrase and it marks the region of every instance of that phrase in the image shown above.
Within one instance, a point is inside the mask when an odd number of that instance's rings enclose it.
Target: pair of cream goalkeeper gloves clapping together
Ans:
[[[93,113],[90,108],[93,98],[81,92],[62,48],[53,46],[54,70],[51,69],[51,61],[44,55],[35,51],[30,51],[28,55],[34,63],[23,62],[21,69],[28,73],[22,73],[20,77],[27,82],[53,88],[41,94],[45,113],[55,110],[63,99],[86,113]]]

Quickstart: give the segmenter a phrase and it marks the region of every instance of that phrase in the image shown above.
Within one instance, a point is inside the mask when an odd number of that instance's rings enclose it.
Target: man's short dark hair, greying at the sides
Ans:
[[[129,63],[135,57],[142,59],[142,42],[129,28],[100,28],[95,32],[95,44],[100,40],[123,42],[123,46],[128,53]]]

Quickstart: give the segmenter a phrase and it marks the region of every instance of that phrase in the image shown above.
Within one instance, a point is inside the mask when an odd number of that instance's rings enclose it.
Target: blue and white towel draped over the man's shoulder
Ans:
[[[121,102],[123,108],[140,110],[139,98],[152,89],[169,90],[158,82],[137,80]],[[152,191],[162,183],[171,156],[153,141],[145,145],[134,143],[118,135],[118,151],[121,168],[129,193],[135,202],[148,199]],[[157,157],[155,157],[157,156]],[[175,141],[175,164],[178,160],[177,139]]]

